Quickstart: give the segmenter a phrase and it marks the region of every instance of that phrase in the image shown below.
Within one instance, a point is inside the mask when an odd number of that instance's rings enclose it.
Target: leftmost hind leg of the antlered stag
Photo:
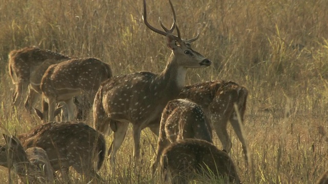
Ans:
[[[129,125],[128,122],[118,122],[118,121],[116,121],[115,124],[116,124],[116,131],[114,132],[114,139],[111,144],[111,147],[108,150],[108,154],[110,154],[110,162],[112,164],[115,164],[116,152],[124,141]]]

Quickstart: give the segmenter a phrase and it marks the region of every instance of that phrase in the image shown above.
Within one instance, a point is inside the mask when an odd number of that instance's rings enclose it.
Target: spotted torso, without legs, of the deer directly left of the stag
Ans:
[[[93,93],[104,80],[112,77],[108,64],[95,58],[79,58],[53,64],[45,72],[40,88],[46,96],[66,93]],[[69,92],[73,90],[73,92]],[[75,92],[74,92],[75,91]]]

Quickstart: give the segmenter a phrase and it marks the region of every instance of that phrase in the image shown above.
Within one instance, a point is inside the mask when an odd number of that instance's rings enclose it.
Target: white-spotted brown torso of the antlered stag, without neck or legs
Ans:
[[[157,118],[168,99],[178,95],[169,79],[158,78],[150,72],[139,72],[104,82],[94,101],[95,117],[109,115],[114,120],[129,120],[132,124]],[[170,87],[172,90],[168,91]],[[110,114],[105,113],[107,109],[111,110]]]

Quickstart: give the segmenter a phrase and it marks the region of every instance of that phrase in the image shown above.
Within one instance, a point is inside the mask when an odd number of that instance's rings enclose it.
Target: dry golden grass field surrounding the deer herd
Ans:
[[[213,61],[213,67],[189,71],[187,82],[233,80],[249,89],[245,132],[254,166],[248,170],[231,130],[230,155],[242,181],[313,183],[328,167],[328,1],[173,0],[173,5],[182,36],[199,29],[193,47]],[[141,10],[140,0],[1,0],[0,122],[17,133],[40,123],[10,108],[7,55],[14,49],[37,45],[97,57],[111,64],[114,75],[163,70],[170,54],[165,38],[146,28]],[[167,1],[149,0],[148,10],[153,25],[159,26],[159,16],[171,24]],[[111,183],[159,182],[159,175],[149,175],[156,137],[143,131],[141,164],[133,168],[130,135],[118,151],[117,173],[110,174],[107,160],[100,174]],[[216,137],[215,144],[221,146]],[[7,173],[0,169],[0,182]]]

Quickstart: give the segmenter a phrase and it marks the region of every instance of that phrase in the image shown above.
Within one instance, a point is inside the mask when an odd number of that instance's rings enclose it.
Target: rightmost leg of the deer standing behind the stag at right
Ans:
[[[248,164],[247,141],[246,141],[244,135],[242,134],[242,128],[243,128],[243,127],[241,127],[242,122],[240,122],[240,123],[238,122],[237,115],[235,112],[233,113],[232,117],[230,118],[230,123],[231,123],[232,128],[235,130],[239,141],[241,142],[242,151],[243,151],[244,157],[245,157],[245,162],[246,162],[246,164]]]

